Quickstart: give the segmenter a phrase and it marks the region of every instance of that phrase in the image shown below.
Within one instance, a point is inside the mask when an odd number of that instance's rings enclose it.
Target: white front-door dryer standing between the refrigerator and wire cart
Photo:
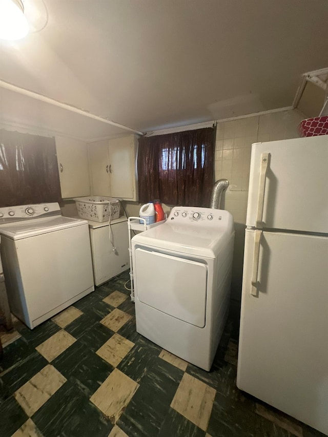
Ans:
[[[132,238],[137,332],[210,370],[229,310],[233,217],[174,207]]]

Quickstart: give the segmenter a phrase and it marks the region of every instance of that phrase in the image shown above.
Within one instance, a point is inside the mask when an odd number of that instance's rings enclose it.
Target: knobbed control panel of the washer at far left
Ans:
[[[55,215],[61,215],[58,203],[37,203],[31,205],[7,206],[0,208],[0,224]]]

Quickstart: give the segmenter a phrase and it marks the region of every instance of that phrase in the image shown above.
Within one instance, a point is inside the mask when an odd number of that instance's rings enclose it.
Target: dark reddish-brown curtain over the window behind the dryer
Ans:
[[[139,138],[139,201],[209,207],[214,151],[214,128]]]

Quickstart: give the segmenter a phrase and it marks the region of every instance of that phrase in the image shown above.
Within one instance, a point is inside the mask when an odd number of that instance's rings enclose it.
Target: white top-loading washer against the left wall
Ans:
[[[10,309],[29,328],[94,290],[88,222],[58,203],[0,208],[0,235]]]

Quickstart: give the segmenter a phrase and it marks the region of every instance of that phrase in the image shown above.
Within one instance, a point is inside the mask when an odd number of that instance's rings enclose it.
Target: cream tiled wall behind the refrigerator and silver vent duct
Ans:
[[[235,221],[232,298],[240,300],[244,230],[253,142],[297,138],[300,111],[282,111],[217,123],[215,144],[215,180],[226,178],[229,188],[221,207],[230,211]]]

